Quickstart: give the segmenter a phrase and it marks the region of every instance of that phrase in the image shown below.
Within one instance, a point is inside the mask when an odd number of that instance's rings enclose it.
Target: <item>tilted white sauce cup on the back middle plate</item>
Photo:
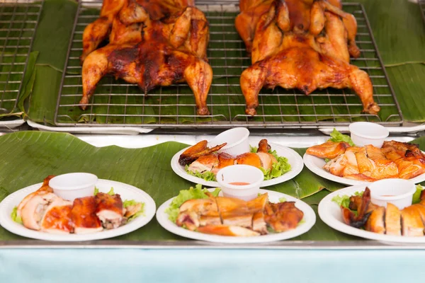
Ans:
[[[249,152],[249,130],[244,127],[228,129],[225,132],[217,134],[217,136],[208,142],[208,147],[217,146],[218,144],[227,143],[218,152],[225,152],[232,156],[238,156]]]

